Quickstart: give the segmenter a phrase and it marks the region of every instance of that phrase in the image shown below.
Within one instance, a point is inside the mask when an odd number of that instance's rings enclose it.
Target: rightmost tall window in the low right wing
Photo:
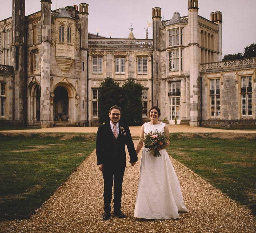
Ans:
[[[252,116],[252,76],[241,77],[241,112],[242,117]]]

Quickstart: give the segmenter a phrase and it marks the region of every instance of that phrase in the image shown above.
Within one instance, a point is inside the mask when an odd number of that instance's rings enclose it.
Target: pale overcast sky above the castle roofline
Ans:
[[[0,0],[0,20],[12,16],[12,0]],[[244,52],[256,43],[256,0],[199,0],[199,15],[210,20],[210,12],[222,12],[223,55]],[[162,20],[169,20],[175,11],[188,15],[188,0],[52,0],[52,10],[65,6],[89,4],[88,30],[102,36],[127,38],[132,28],[135,38],[144,39],[147,21],[152,22],[152,8],[162,8]],[[26,0],[26,15],[41,10],[40,0]],[[148,29],[152,39],[152,27]]]

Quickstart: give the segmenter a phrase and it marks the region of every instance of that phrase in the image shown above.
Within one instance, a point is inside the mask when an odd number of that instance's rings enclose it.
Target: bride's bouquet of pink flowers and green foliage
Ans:
[[[154,157],[161,156],[159,149],[163,149],[164,146],[167,145],[167,136],[165,133],[166,132],[160,132],[159,130],[155,130],[154,132],[150,131],[144,134],[144,138],[141,138],[145,148],[149,148],[148,150],[154,149]]]

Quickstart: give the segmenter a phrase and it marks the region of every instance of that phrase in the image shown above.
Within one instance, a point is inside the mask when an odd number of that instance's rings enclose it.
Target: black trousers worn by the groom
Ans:
[[[114,181],[114,212],[121,210],[121,198],[122,198],[122,184],[124,177],[125,167],[118,166],[104,166],[102,171],[104,179],[104,211],[110,213],[111,211],[111,199],[112,199],[112,187]]]

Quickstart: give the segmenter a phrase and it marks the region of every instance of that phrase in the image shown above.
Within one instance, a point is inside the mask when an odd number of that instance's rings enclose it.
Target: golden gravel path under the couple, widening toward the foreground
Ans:
[[[137,143],[134,142],[135,146]],[[139,160],[140,157],[141,152]],[[134,167],[127,164],[124,176],[122,210],[127,218],[112,215],[110,220],[103,221],[103,178],[97,169],[94,150],[30,219],[0,222],[0,232],[256,232],[256,221],[249,209],[170,159],[189,210],[181,213],[178,220],[133,217],[138,162]]]

